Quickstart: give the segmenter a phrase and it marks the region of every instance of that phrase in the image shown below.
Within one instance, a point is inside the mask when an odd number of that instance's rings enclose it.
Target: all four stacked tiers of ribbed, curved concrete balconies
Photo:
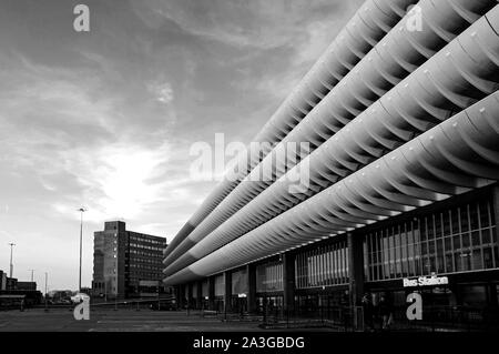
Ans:
[[[367,242],[364,227],[495,190],[498,33],[495,0],[366,1],[254,139],[268,149],[227,175],[166,249],[165,283],[335,237]],[[309,153],[284,166],[272,152],[291,142]],[[287,176],[305,169],[309,185],[294,193]],[[272,179],[255,181],[261,170]]]

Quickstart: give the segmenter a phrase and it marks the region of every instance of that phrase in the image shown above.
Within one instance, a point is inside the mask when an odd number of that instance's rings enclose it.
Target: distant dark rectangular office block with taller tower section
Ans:
[[[94,233],[93,293],[142,297],[164,292],[162,254],[166,239],[128,231],[121,221],[105,222]]]

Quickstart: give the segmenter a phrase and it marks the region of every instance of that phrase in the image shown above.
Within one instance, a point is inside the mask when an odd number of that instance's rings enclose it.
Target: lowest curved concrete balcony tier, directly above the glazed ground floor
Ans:
[[[499,93],[166,277],[237,267],[497,182]]]

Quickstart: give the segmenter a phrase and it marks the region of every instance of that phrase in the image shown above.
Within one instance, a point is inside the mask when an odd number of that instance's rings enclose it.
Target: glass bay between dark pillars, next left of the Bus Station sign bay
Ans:
[[[295,259],[296,289],[348,283],[346,241],[302,252]]]

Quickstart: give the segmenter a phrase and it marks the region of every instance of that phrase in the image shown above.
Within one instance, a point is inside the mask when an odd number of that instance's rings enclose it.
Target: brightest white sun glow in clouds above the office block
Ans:
[[[143,213],[164,193],[164,183],[153,180],[164,173],[167,159],[166,144],[154,150],[118,144],[101,149],[92,158],[79,154],[71,165],[91,171],[80,175],[80,183],[91,186],[83,195],[89,209],[85,218],[134,219]]]

